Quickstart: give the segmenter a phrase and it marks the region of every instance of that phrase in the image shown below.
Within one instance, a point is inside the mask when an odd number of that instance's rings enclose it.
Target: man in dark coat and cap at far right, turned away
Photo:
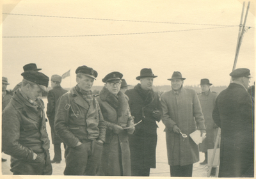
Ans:
[[[254,104],[246,91],[250,70],[230,73],[232,83],[216,99],[212,117],[221,128],[219,177],[253,177]]]

